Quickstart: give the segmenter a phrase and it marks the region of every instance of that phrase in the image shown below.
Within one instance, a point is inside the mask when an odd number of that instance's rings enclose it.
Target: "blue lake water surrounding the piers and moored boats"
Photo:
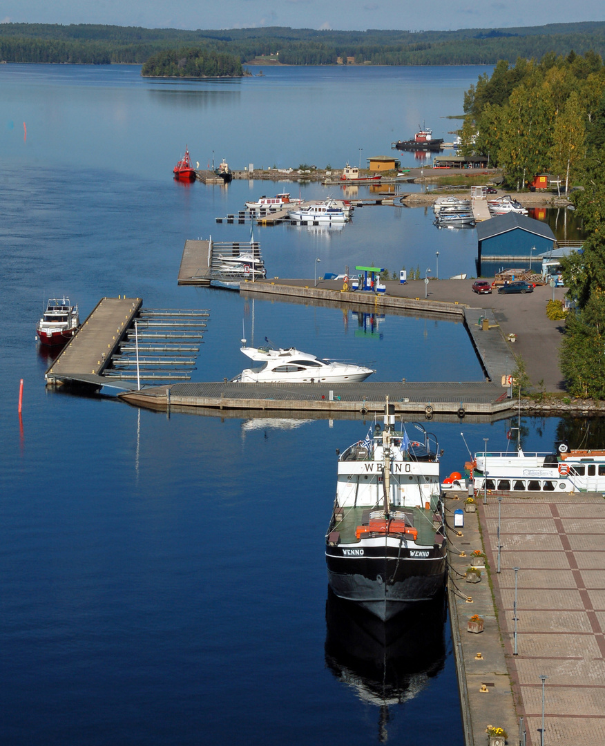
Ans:
[[[178,287],[185,239],[249,239],[249,226],[216,217],[283,185],[187,187],[172,167],[186,144],[202,163],[214,151],[236,168],[340,167],[386,154],[422,120],[442,137],[455,126],[443,117],[461,113],[483,70],[288,68],[172,83],[127,66],[0,66],[5,742],[354,746],[386,729],[401,744],[432,745],[436,733],[463,743],[439,612],[422,624],[424,659],[409,650],[419,620],[406,621],[387,715],[382,674],[364,659],[371,644],[360,653],[368,630],[326,609],[335,451],[367,423],[167,418],[53,392],[34,328],[49,295],[69,295],[84,317],[102,296],[125,294],[145,307],[210,310],[195,380],[245,366],[242,322],[248,339],[372,362],[378,380],[480,380],[460,324]],[[437,231],[430,219],[372,207],[342,231],[255,228],[255,238],[281,277],[313,277],[316,259],[322,271],[380,263],[435,273],[436,251],[439,275],[472,273],[474,231]],[[560,423],[524,426],[527,448],[548,448]],[[461,430],[471,448],[483,437],[498,448],[508,427],[431,424],[443,471],[468,457]]]

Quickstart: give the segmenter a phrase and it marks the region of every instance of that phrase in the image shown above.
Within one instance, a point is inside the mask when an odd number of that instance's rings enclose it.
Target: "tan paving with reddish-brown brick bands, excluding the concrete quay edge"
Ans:
[[[512,692],[518,715],[524,717],[527,744],[540,744],[540,674],[548,677],[545,744],[605,744],[603,496],[584,493],[555,498],[527,493],[524,498],[504,497],[500,575],[495,572],[498,502],[490,496],[486,507],[478,502]],[[513,567],[519,568],[518,656],[512,654]],[[497,724],[496,719],[490,723]],[[512,743],[516,731],[507,730]]]

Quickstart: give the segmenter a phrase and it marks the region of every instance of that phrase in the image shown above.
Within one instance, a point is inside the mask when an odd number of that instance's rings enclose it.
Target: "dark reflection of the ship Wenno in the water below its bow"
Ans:
[[[387,740],[389,708],[415,698],[445,664],[445,594],[380,621],[327,590],[325,661],[336,679],[380,708],[378,740]]]

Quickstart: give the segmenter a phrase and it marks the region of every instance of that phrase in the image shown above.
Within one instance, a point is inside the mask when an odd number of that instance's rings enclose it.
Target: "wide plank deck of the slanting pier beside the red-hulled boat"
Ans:
[[[78,333],[46,372],[46,382],[100,375],[141,307],[141,298],[101,298]]]

